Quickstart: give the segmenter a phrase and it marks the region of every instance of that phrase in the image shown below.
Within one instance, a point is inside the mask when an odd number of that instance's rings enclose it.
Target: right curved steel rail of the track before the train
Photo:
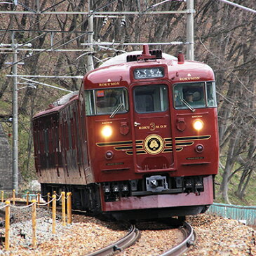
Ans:
[[[189,250],[191,245],[194,245],[196,242],[196,233],[193,228],[187,222],[182,222],[183,226],[181,227],[181,231],[184,234],[184,240],[179,245],[176,245],[174,248],[164,252],[160,256],[178,256],[182,255],[184,252]]]

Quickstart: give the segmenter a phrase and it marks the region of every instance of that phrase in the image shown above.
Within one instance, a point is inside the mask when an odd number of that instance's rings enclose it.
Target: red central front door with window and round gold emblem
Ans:
[[[135,172],[173,170],[168,86],[137,85],[132,93]]]

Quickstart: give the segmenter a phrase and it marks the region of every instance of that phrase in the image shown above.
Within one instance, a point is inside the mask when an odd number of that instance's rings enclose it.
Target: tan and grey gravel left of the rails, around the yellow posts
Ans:
[[[0,255],[71,256],[86,255],[127,234],[113,222],[102,222],[94,217],[73,215],[73,223],[62,226],[60,213],[56,220],[56,233],[52,234],[52,215],[42,208],[36,209],[36,248],[32,248],[31,208],[11,208],[15,222],[10,229],[10,250],[0,245]],[[5,229],[0,232],[4,234]],[[22,234],[22,235],[21,235]],[[24,238],[25,235],[25,238]]]

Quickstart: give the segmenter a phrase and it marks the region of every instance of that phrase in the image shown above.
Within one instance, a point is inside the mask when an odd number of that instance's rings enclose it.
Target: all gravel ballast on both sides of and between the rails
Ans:
[[[56,221],[56,234],[52,234],[51,213],[36,209],[36,248],[32,248],[31,208],[11,208],[16,220],[11,224],[9,251],[0,245],[0,255],[86,255],[122,238],[127,230],[113,222],[102,222],[94,217],[73,215],[73,223],[62,226]],[[60,215],[59,215],[60,216]],[[196,231],[196,245],[187,256],[193,255],[256,255],[254,230],[236,220],[213,215],[187,217]],[[4,234],[5,229],[0,232]],[[25,236],[25,238],[24,238]],[[172,229],[142,230],[142,236],[130,248],[118,255],[159,255],[172,247],[181,236]]]

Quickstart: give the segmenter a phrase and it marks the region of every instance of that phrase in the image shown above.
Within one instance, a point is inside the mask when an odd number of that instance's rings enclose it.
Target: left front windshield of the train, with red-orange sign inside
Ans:
[[[86,90],[86,115],[118,114],[128,112],[126,88]]]

